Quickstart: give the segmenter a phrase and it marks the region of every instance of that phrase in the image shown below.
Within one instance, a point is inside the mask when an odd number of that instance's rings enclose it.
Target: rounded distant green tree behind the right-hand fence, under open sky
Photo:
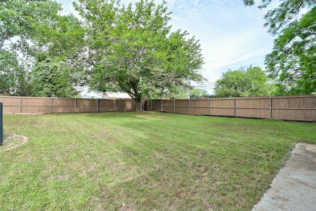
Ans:
[[[259,67],[228,70],[215,83],[214,92],[217,97],[248,97],[271,95],[274,88]]]

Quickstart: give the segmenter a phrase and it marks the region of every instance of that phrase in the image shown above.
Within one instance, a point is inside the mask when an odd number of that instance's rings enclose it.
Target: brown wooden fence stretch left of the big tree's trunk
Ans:
[[[3,114],[134,111],[132,99],[1,96]]]

